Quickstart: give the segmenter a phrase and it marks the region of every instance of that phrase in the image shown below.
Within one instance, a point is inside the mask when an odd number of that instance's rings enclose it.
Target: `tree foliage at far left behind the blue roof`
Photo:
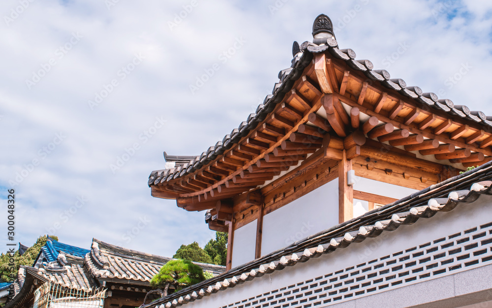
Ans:
[[[55,236],[50,236],[53,240],[58,240]],[[20,256],[19,251],[16,250],[14,253],[14,265],[10,264],[10,254],[2,253],[0,255],[0,281],[1,282],[10,282],[15,277],[17,277],[17,272],[21,265],[32,266],[37,256],[39,255],[39,251],[41,247],[46,244],[48,240],[48,236],[39,237],[34,245],[26,250],[26,252]]]

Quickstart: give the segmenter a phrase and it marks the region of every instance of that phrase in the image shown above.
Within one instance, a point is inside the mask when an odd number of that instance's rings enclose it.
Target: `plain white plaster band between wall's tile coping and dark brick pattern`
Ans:
[[[337,249],[333,253],[310,259],[306,263],[298,263],[293,267],[286,267],[281,271],[254,278],[252,281],[237,285],[234,288],[226,289],[225,291],[219,291],[217,294],[212,294],[201,300],[190,302],[183,307],[209,308],[233,304],[240,300],[256,297],[265,292],[289,286],[307,279],[312,279],[323,274],[333,273],[362,262],[423,244],[432,239],[438,239],[440,237],[451,235],[454,232],[488,223],[492,220],[491,217],[492,197],[481,196],[478,201],[472,204],[459,205],[459,207],[453,211],[439,212],[429,219],[421,218],[413,225],[401,226],[393,232],[383,232],[381,236],[369,238],[361,243],[352,243],[347,248]],[[475,290],[471,291],[474,292]],[[422,292],[433,293],[434,291],[422,290]],[[384,292],[380,293],[380,296],[384,298],[384,294]],[[380,307],[397,308],[422,304],[419,303],[422,298],[421,296],[410,296],[409,298],[414,303],[397,303],[398,301],[393,299],[393,301],[390,301],[392,303],[391,306],[382,305]],[[342,306],[352,307],[350,305]]]

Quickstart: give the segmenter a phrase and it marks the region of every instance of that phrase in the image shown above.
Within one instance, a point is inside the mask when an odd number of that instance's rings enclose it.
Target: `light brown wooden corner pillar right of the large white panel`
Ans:
[[[343,150],[338,162],[338,222],[342,223],[354,217],[354,192],[347,185],[347,171],[352,170],[352,161],[347,160],[347,151]]]

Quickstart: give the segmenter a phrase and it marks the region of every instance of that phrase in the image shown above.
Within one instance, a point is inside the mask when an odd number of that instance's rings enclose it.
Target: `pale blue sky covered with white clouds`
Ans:
[[[254,112],[320,13],[357,59],[492,114],[491,1],[2,0],[1,247],[8,189],[13,242],[203,246],[204,213],[151,197],[150,172]]]

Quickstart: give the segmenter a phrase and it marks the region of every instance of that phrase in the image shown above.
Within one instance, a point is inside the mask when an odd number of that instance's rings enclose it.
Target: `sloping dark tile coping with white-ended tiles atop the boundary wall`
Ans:
[[[481,195],[492,194],[492,163],[432,185],[392,204],[297,241],[260,259],[236,267],[227,273],[205,280],[179,292],[161,298],[146,308],[179,307],[217,292],[227,292],[238,284],[247,283],[265,274],[281,271],[287,266],[308,262],[338,248],[375,238],[421,218],[431,218],[437,212],[448,212],[457,206],[472,206]],[[162,305],[162,306],[161,306]]]

